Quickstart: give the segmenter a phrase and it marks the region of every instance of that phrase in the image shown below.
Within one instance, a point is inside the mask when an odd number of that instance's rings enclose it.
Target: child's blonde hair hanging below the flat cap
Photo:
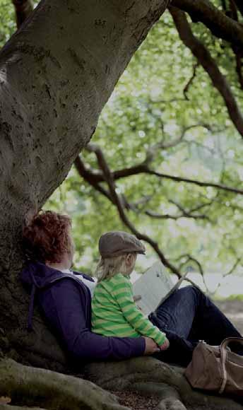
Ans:
[[[126,274],[128,271],[126,267],[126,257],[129,254],[122,254],[118,257],[100,258],[99,263],[95,269],[95,276],[98,282],[104,279],[111,279],[116,274]]]

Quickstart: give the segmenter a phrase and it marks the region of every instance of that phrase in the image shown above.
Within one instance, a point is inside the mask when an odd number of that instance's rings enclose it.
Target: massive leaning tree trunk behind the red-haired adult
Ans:
[[[0,348],[62,370],[42,317],[25,331],[23,222],[64,180],[102,107],[169,0],[42,0],[0,54]]]

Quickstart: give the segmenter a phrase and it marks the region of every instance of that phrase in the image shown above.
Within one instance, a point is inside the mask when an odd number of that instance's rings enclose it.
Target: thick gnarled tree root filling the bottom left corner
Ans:
[[[114,394],[88,380],[0,360],[0,397],[10,397],[7,410],[35,406],[48,410],[128,410]],[[14,406],[16,404],[16,406]],[[12,409],[11,409],[12,407]],[[5,409],[4,409],[5,410]]]

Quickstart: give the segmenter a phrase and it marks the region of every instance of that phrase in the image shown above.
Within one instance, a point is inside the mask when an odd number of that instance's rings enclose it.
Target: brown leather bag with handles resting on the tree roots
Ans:
[[[228,337],[220,346],[198,343],[184,372],[192,387],[243,397],[243,356],[227,349],[231,342],[243,345],[243,338]]]

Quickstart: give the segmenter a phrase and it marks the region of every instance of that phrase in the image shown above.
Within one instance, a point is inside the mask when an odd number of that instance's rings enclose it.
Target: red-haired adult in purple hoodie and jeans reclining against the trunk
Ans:
[[[69,216],[38,213],[23,230],[23,247],[28,262],[21,272],[31,290],[28,327],[31,328],[34,298],[53,332],[75,359],[121,360],[151,355],[169,363],[187,365],[198,343],[218,345],[228,336],[240,336],[218,307],[198,288],[186,286],[162,303],[150,320],[170,341],[159,351],[146,336],[113,337],[91,332],[91,295],[95,282],[90,276],[71,271],[74,245]]]

